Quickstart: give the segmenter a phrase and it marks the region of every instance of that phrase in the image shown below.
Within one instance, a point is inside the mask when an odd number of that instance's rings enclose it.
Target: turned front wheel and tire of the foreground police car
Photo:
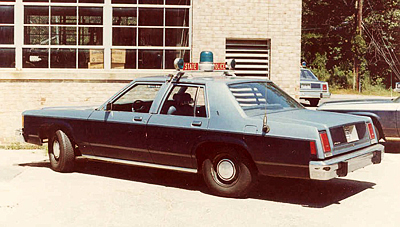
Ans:
[[[57,172],[71,172],[75,165],[75,153],[71,140],[61,130],[57,130],[49,140],[51,169]]]

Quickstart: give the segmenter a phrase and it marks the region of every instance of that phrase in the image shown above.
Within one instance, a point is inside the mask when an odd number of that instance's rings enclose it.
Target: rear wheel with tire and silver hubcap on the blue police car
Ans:
[[[233,149],[222,149],[206,158],[202,174],[210,191],[223,197],[244,197],[256,178],[249,160]]]

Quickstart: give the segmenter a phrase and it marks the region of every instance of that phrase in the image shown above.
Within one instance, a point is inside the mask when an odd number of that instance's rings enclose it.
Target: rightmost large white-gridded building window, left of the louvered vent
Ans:
[[[177,57],[190,61],[190,0],[112,0],[111,3],[112,49],[116,50],[112,52],[111,68],[173,69]]]

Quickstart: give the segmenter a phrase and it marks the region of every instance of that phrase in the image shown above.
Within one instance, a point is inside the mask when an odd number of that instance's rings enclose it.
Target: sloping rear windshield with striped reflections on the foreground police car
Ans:
[[[272,82],[231,84],[229,89],[247,116],[304,108]]]

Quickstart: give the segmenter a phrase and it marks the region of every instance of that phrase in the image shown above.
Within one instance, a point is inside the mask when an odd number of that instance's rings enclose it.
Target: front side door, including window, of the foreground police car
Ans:
[[[136,83],[105,110],[90,117],[89,143],[95,156],[152,162],[146,146],[146,124],[160,83]]]

